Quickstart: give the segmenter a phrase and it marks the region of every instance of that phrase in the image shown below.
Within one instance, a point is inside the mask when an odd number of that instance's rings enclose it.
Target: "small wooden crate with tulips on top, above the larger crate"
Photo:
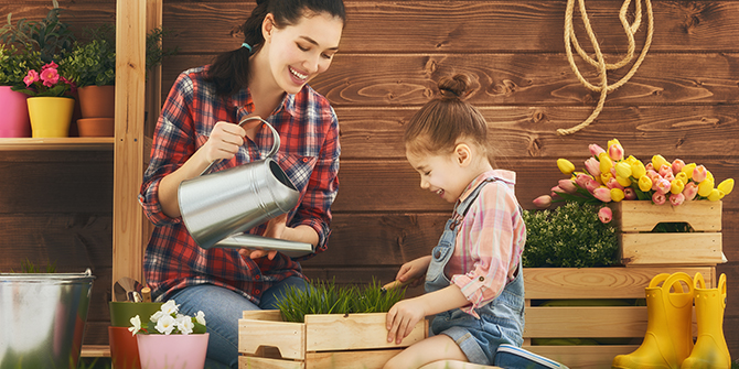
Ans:
[[[611,204],[621,263],[632,265],[716,265],[721,248],[721,202],[693,200],[679,206],[649,200]],[[687,223],[695,232],[649,232],[660,223]]]

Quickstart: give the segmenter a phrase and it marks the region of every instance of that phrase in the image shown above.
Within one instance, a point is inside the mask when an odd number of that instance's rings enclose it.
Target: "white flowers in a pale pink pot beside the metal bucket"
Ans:
[[[200,369],[205,365],[208,333],[205,315],[180,314],[174,300],[165,302],[161,310],[141,326],[139,315],[131,318],[128,330],[136,335],[141,368]]]

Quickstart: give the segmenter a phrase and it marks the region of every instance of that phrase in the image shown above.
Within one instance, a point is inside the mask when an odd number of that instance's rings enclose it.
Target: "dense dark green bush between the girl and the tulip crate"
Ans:
[[[524,267],[587,268],[617,263],[615,228],[598,218],[598,207],[567,203],[555,209],[524,210]]]

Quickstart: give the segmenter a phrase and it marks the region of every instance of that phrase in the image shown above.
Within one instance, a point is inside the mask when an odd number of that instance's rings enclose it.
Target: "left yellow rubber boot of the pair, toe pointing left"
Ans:
[[[645,290],[644,341],[635,351],[617,356],[612,368],[679,369],[693,349],[693,279],[684,272],[662,273]]]

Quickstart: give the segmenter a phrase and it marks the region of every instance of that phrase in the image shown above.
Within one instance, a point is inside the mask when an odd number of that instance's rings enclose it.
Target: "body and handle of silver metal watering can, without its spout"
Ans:
[[[248,119],[259,118],[245,120]],[[272,126],[261,121],[275,138],[266,159],[180,184],[178,202],[182,220],[195,242],[204,249],[288,213],[298,205],[300,193],[271,159],[280,146],[280,137]],[[210,166],[204,173],[208,170]]]

